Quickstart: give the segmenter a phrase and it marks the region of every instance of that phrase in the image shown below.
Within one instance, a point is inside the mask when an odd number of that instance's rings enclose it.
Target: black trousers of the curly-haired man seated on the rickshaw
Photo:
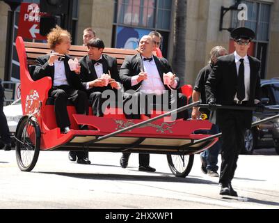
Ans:
[[[54,98],[56,123],[59,128],[70,126],[67,100],[74,104],[77,114],[88,114],[87,95],[84,91],[73,89],[69,85],[53,86],[49,91],[49,97]]]

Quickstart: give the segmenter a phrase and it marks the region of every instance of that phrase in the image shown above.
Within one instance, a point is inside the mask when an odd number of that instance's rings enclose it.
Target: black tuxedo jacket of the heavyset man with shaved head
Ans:
[[[164,83],[163,80],[163,74],[167,72],[173,72],[171,69],[168,61],[164,58],[158,58],[157,56],[153,56],[153,59],[156,63],[159,75],[161,77],[161,81]],[[139,82],[138,84],[131,86],[131,77],[138,75],[141,70],[143,69],[143,59],[141,58],[141,54],[136,54],[134,56],[127,56],[125,58],[125,61],[122,63],[122,66],[120,68],[120,79],[122,84],[124,85],[125,91],[127,90],[134,90],[140,88],[143,81]],[[175,77],[177,81],[177,88],[180,85],[180,79],[178,77]],[[166,90],[168,89],[168,86],[164,85]]]

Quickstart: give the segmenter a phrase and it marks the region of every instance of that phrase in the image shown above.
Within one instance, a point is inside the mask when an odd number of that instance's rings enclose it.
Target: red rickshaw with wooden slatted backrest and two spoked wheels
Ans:
[[[123,114],[104,117],[76,114],[74,106],[68,105],[71,130],[61,134],[56,125],[54,105],[48,98],[51,78],[44,77],[33,81],[30,73],[38,56],[47,54],[50,49],[45,43],[24,42],[21,37],[16,40],[20,63],[20,80],[22,94],[22,111],[24,116],[17,125],[16,154],[17,164],[22,171],[31,171],[38,160],[40,150],[60,151],[103,151],[129,153],[167,154],[170,169],[176,176],[186,176],[193,164],[193,154],[212,146],[218,139],[202,140],[209,135],[193,134],[195,130],[211,128],[208,121],[172,121],[166,122],[158,116],[157,120],[145,121],[138,128],[130,128],[143,120],[126,119]],[[80,59],[87,54],[87,47],[72,45],[70,56]],[[117,59],[118,68],[127,55],[136,54],[135,50],[105,48],[104,54]],[[29,69],[31,72],[29,72]],[[183,86],[182,93],[191,96],[191,87]],[[189,108],[193,105],[189,105]],[[163,115],[164,116],[164,115]],[[78,125],[86,124],[89,130],[79,130]],[[115,132],[115,134],[113,133]],[[110,136],[111,135],[111,136]],[[102,140],[101,140],[102,139]],[[175,167],[172,155],[182,157],[184,170]],[[189,155],[189,160],[184,159]],[[26,158],[28,157],[28,158]],[[187,162],[185,164],[185,162]]]

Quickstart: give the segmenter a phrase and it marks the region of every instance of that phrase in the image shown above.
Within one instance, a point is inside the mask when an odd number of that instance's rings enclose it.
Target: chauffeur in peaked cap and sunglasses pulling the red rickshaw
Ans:
[[[231,33],[235,51],[218,58],[206,82],[209,105],[254,106],[262,110],[260,103],[260,61],[248,56],[250,41],[255,33],[248,28],[239,27]],[[220,180],[221,195],[237,197],[232,189],[232,178],[237,169],[237,159],[244,148],[244,133],[251,128],[252,111],[218,109],[216,123],[221,128],[222,164]]]

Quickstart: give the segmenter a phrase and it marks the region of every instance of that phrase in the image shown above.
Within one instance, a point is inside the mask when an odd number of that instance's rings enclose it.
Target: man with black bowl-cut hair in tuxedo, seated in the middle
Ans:
[[[104,42],[99,38],[89,40],[88,55],[79,60],[81,65],[80,78],[83,86],[86,88],[89,99],[92,101],[93,115],[104,116],[103,104],[109,100],[109,105],[113,105],[118,100],[120,94],[120,78],[118,75],[117,61],[114,57],[103,54]],[[109,81],[106,83],[106,77]],[[107,84],[107,85],[106,85]],[[104,95],[111,97],[106,98]]]

